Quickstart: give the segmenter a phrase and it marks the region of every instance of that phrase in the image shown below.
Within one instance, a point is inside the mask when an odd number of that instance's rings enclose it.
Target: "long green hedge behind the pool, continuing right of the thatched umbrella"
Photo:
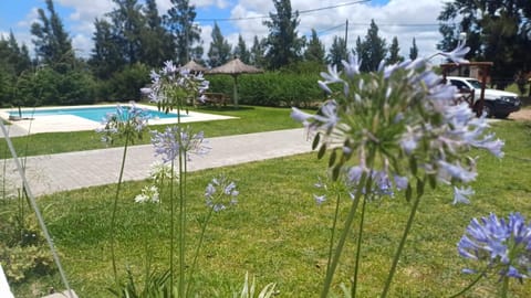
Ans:
[[[233,97],[235,79],[230,75],[207,75],[209,92]],[[238,75],[239,104],[257,106],[311,107],[322,102],[319,72],[267,72]],[[3,105],[50,106],[81,105],[98,102],[139,100],[139,89],[149,84],[149,68],[143,64],[126,66],[107,81],[95,81],[86,71],[60,74],[50,67],[28,72],[15,79],[0,75]]]

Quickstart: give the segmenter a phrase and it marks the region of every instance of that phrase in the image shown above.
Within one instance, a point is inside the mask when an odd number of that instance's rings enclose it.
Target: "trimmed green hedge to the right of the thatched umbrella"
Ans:
[[[223,93],[232,98],[233,82],[230,75],[207,75],[209,92]],[[262,73],[238,75],[240,104],[257,106],[309,107],[324,97],[319,87],[319,74]]]

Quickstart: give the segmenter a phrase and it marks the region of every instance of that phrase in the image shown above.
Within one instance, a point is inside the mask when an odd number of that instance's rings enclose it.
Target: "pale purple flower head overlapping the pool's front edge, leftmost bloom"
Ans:
[[[147,128],[149,114],[144,108],[138,108],[134,102],[129,106],[116,106],[115,113],[107,113],[102,120],[103,127],[96,131],[103,134],[102,141],[113,142],[115,139],[129,138],[134,141],[142,138]]]

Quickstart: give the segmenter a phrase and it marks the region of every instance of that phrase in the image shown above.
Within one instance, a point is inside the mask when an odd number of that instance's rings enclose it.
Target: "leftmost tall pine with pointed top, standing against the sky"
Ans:
[[[55,12],[53,1],[45,0],[45,3],[50,17],[46,17],[43,9],[39,9],[39,21],[31,24],[31,34],[35,36],[35,54],[42,63],[64,73],[75,58],[72,40]]]

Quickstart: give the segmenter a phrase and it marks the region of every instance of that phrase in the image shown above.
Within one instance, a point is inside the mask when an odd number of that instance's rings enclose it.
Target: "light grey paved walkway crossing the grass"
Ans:
[[[288,129],[207,139],[210,152],[192,156],[190,171],[218,168],[311,151],[303,129]],[[34,195],[93,185],[116,183],[123,148],[88,150],[29,157],[25,173]],[[152,145],[129,147],[124,180],[144,180],[155,158]],[[3,167],[3,160],[2,167]],[[12,160],[7,161],[10,191],[20,188],[20,177]],[[3,171],[0,171],[3,172]],[[0,175],[1,177],[1,175]]]

